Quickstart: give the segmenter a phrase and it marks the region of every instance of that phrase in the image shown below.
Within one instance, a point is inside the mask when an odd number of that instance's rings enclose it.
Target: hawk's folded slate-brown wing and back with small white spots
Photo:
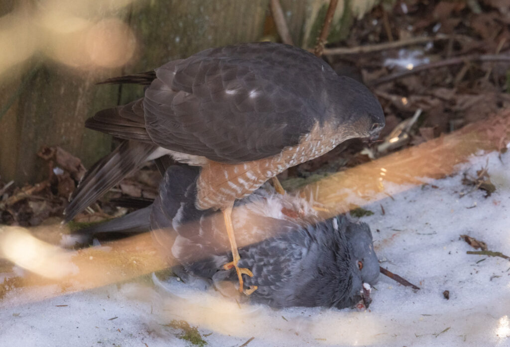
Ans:
[[[144,98],[159,146],[223,163],[269,157],[322,123],[330,67],[271,43],[210,49],[156,69]]]

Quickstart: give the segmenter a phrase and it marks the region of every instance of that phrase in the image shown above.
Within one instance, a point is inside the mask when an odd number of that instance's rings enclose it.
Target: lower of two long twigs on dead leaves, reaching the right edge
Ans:
[[[433,62],[430,64],[419,65],[411,70],[399,71],[393,74],[390,74],[385,77],[377,78],[373,81],[370,81],[368,84],[370,85],[379,85],[382,83],[393,81],[394,79],[402,78],[405,76],[413,75],[421,71],[442,68],[450,65],[462,64],[465,62],[510,62],[510,52],[506,51],[500,54],[471,54],[464,56],[456,56],[454,58],[445,59],[439,62]]]

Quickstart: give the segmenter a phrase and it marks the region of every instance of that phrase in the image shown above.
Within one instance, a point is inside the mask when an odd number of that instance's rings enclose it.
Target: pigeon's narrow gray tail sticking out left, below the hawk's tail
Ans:
[[[148,232],[150,230],[149,216],[151,209],[152,206],[148,206],[126,214],[125,216],[77,230],[75,233],[95,235],[106,233],[137,234]]]

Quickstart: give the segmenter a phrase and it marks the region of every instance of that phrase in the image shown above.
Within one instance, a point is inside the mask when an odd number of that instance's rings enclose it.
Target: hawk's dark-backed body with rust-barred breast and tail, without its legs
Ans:
[[[146,160],[201,166],[196,206],[224,209],[286,168],[353,137],[377,137],[384,114],[361,83],[289,45],[207,49],[106,83],[147,85],[143,98],[86,126],[125,141],[87,173],[66,219]]]

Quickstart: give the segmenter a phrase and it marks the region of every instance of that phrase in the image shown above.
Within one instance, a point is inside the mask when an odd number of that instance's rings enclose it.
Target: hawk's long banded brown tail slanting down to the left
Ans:
[[[124,177],[148,160],[158,149],[154,144],[136,141],[123,141],[109,155],[99,159],[85,174],[82,182],[71,196],[66,207],[65,221],[92,204],[107,190],[118,184]]]

